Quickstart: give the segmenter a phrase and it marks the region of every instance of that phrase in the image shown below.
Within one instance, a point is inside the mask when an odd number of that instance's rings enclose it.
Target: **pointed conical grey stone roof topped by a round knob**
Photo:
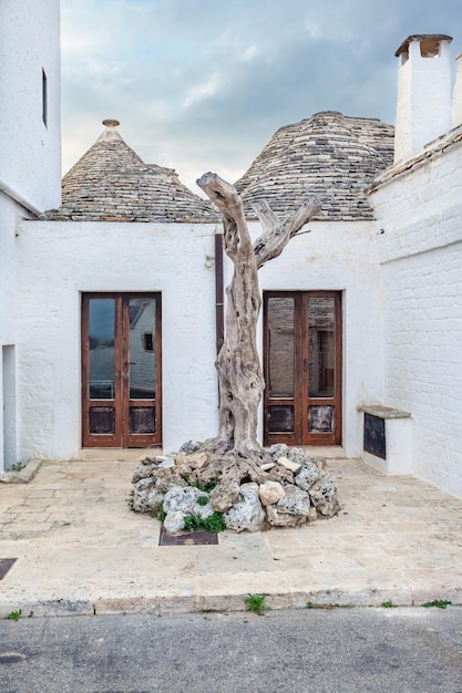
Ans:
[[[145,164],[115,130],[96,143],[62,180],[62,205],[45,213],[54,221],[218,221],[215,208],[179,182],[173,168]]]

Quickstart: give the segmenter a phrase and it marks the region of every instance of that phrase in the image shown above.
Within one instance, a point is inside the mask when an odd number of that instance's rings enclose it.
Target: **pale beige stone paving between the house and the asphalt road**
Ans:
[[[462,604],[462,500],[413,477],[330,459],[342,509],[297,529],[223,532],[218,546],[158,546],[160,523],[131,513],[134,461],[44,462],[0,484],[0,618],[273,609],[319,604]]]

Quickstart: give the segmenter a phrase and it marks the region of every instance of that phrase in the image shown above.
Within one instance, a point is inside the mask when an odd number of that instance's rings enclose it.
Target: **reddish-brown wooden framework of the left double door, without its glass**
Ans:
[[[90,299],[115,299],[114,317],[114,346],[115,346],[115,371],[114,377],[121,383],[115,387],[114,400],[111,402],[115,408],[114,434],[91,434],[89,421],[89,356],[84,350],[89,349],[89,304]],[[120,299],[119,301],[116,299]],[[155,368],[156,368],[156,391],[155,391],[155,433],[154,434],[127,434],[124,433],[124,415],[130,416],[131,397],[125,396],[129,380],[124,376],[123,354],[129,353],[129,332],[124,333],[124,303],[130,299],[155,299]],[[162,293],[160,291],[82,291],[80,300],[81,312],[81,445],[82,448],[124,448],[134,447],[162,447]],[[130,328],[129,328],[130,329]],[[124,402],[125,397],[125,402]],[[97,400],[95,400],[97,402]],[[142,402],[142,401],[140,401]],[[136,435],[136,441],[131,441],[131,436]],[[153,436],[155,441],[153,441]],[[126,439],[124,439],[126,437]],[[135,443],[135,444],[131,444]]]

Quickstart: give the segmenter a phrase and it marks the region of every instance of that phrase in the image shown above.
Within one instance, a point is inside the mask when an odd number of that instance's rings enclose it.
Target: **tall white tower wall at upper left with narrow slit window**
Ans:
[[[48,83],[47,125],[42,70]],[[59,206],[59,0],[1,0],[0,93],[0,188],[6,183],[42,211]]]

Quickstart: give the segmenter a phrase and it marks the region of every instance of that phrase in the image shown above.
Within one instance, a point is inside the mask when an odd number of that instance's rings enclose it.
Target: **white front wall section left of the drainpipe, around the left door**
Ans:
[[[20,456],[75,457],[81,443],[80,301],[161,291],[165,449],[217,428],[213,225],[29,221],[19,242]]]

